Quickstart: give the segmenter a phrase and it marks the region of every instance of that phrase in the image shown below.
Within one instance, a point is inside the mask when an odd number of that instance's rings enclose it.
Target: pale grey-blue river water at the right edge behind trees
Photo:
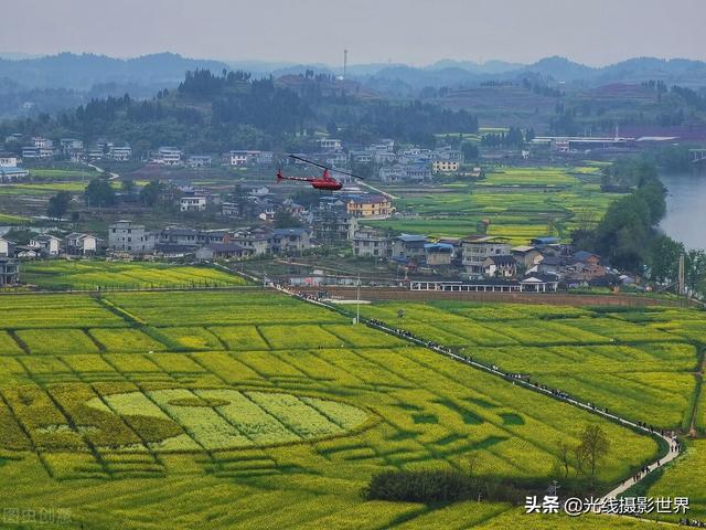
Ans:
[[[660,180],[668,190],[662,230],[687,248],[706,250],[706,171],[660,174]]]

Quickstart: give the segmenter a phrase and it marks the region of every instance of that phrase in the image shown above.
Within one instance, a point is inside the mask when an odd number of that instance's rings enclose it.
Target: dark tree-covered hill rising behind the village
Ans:
[[[478,120],[464,110],[371,97],[355,84],[313,72],[292,81],[197,70],[189,72],[176,89],[160,91],[152,99],[135,100],[129,95],[93,99],[55,116],[4,121],[0,137],[19,131],[86,142],[105,138],[128,142],[136,153],[162,145],[215,153],[311,148],[317,131],[350,142],[392,137],[432,145],[436,132],[478,130]]]

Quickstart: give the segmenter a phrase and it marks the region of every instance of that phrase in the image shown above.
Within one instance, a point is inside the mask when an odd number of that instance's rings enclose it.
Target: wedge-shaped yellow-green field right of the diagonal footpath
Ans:
[[[440,301],[375,304],[362,312],[627,417],[660,427],[691,422],[706,346],[706,335],[694,332],[706,325],[703,311]]]

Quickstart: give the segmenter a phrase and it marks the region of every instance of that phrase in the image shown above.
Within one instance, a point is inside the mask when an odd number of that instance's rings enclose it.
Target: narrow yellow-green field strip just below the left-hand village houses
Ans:
[[[22,266],[22,279],[51,290],[246,284],[239,276],[210,267],[83,259],[29,262]]]

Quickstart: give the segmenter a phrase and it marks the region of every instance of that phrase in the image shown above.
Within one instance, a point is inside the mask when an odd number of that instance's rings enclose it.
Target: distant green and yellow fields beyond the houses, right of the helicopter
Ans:
[[[483,180],[467,184],[440,184],[434,192],[395,191],[399,212],[417,216],[366,221],[372,226],[434,236],[475,233],[481,220],[490,220],[490,235],[526,243],[531,237],[555,233],[567,237],[580,223],[596,222],[619,198],[601,193],[595,167],[501,168]]]

